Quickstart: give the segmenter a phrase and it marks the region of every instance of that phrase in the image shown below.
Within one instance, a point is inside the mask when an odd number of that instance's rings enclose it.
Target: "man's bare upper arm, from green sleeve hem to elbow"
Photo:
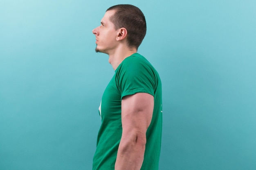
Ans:
[[[148,93],[124,96],[121,101],[123,135],[130,132],[146,134],[152,120],[154,97]]]

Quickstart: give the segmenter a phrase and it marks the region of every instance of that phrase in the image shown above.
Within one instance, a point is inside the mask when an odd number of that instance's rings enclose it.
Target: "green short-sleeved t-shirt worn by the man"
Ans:
[[[138,53],[122,61],[103,93],[99,107],[101,127],[93,157],[93,170],[115,169],[122,134],[121,100],[135,93],[154,96],[153,117],[146,132],[141,170],[158,170],[162,137],[162,84],[155,68]]]

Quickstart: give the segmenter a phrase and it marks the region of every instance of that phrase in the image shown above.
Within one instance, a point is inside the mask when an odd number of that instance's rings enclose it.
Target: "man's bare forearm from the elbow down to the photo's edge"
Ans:
[[[140,170],[144,159],[146,135],[122,137],[115,163],[115,170]]]

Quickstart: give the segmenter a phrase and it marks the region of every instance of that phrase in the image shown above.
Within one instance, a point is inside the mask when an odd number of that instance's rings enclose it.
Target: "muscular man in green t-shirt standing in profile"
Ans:
[[[99,107],[93,170],[157,170],[162,85],[157,71],[137,53],[146,35],[144,14],[133,5],[115,5],[92,33],[96,52],[108,54],[115,70]]]

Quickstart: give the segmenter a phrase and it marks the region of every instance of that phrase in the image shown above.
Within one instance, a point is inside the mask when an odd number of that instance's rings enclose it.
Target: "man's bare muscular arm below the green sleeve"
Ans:
[[[122,137],[115,170],[140,170],[146,146],[146,131],[154,109],[154,97],[147,93],[125,96],[121,102]]]

